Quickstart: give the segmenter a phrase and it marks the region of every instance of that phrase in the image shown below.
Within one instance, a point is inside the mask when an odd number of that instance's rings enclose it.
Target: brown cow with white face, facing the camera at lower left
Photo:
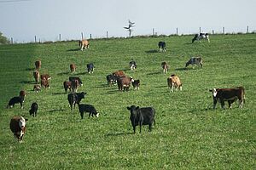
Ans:
[[[23,116],[13,116],[9,123],[12,133],[14,133],[15,138],[18,139],[19,143],[22,143],[23,136],[26,132],[26,122],[27,119]]]

